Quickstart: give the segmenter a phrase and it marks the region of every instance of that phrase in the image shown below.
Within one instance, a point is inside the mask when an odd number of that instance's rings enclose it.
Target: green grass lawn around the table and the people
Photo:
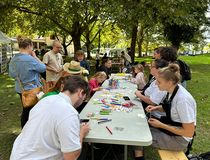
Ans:
[[[210,55],[182,56],[192,70],[187,88],[197,101],[197,135],[191,153],[210,151]],[[143,61],[144,58],[137,58]],[[151,59],[146,59],[151,61]],[[0,75],[0,160],[9,159],[12,144],[20,132],[21,104],[14,91],[14,80],[8,74]],[[151,147],[146,148],[148,160],[157,160]],[[149,155],[148,155],[149,154]]]

